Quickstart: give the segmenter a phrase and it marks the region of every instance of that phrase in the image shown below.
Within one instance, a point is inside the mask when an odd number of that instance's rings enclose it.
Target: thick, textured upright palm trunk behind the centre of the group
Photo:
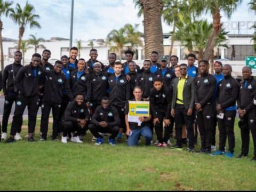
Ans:
[[[162,10],[163,0],[140,0],[144,15],[145,56],[150,58],[152,51],[159,57],[164,55]]]

